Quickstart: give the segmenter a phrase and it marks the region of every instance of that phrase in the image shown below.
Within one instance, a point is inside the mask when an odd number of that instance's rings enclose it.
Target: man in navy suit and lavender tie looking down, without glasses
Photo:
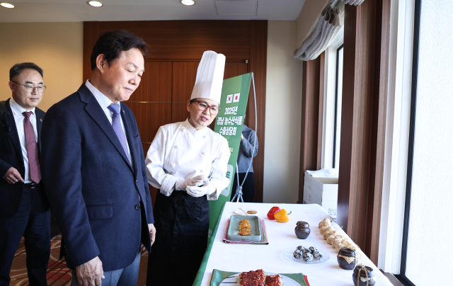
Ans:
[[[139,86],[145,52],[124,30],[101,35],[91,79],[53,105],[42,125],[42,178],[71,285],[137,285],[140,243],[151,251],[154,242],[142,140],[122,103]]]

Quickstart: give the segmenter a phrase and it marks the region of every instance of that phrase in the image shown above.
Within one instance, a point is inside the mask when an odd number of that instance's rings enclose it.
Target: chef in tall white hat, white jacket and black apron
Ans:
[[[149,183],[159,189],[154,205],[156,241],[147,285],[192,285],[207,246],[209,200],[228,186],[230,151],[210,130],[219,113],[225,56],[203,53],[187,110],[190,117],[161,126],[145,164]]]

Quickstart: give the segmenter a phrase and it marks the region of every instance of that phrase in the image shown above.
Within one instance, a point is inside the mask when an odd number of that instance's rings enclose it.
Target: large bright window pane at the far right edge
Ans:
[[[421,3],[420,3],[421,2]],[[415,0],[411,125],[401,274],[405,285],[448,284],[453,237],[453,2]],[[445,273],[445,274],[444,274]]]

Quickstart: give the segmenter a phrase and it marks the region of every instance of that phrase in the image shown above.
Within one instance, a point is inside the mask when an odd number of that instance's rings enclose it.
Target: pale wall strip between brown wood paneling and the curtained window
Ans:
[[[298,199],[302,62],[292,58],[296,41],[296,21],[268,22],[263,202]]]

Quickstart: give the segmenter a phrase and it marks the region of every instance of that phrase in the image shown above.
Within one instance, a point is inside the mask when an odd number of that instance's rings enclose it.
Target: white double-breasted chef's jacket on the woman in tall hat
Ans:
[[[217,191],[208,200],[217,200],[228,186],[226,166],[230,151],[222,135],[205,127],[195,130],[188,120],[161,126],[149,147],[145,164],[148,182],[169,196],[178,179],[205,174]]]

